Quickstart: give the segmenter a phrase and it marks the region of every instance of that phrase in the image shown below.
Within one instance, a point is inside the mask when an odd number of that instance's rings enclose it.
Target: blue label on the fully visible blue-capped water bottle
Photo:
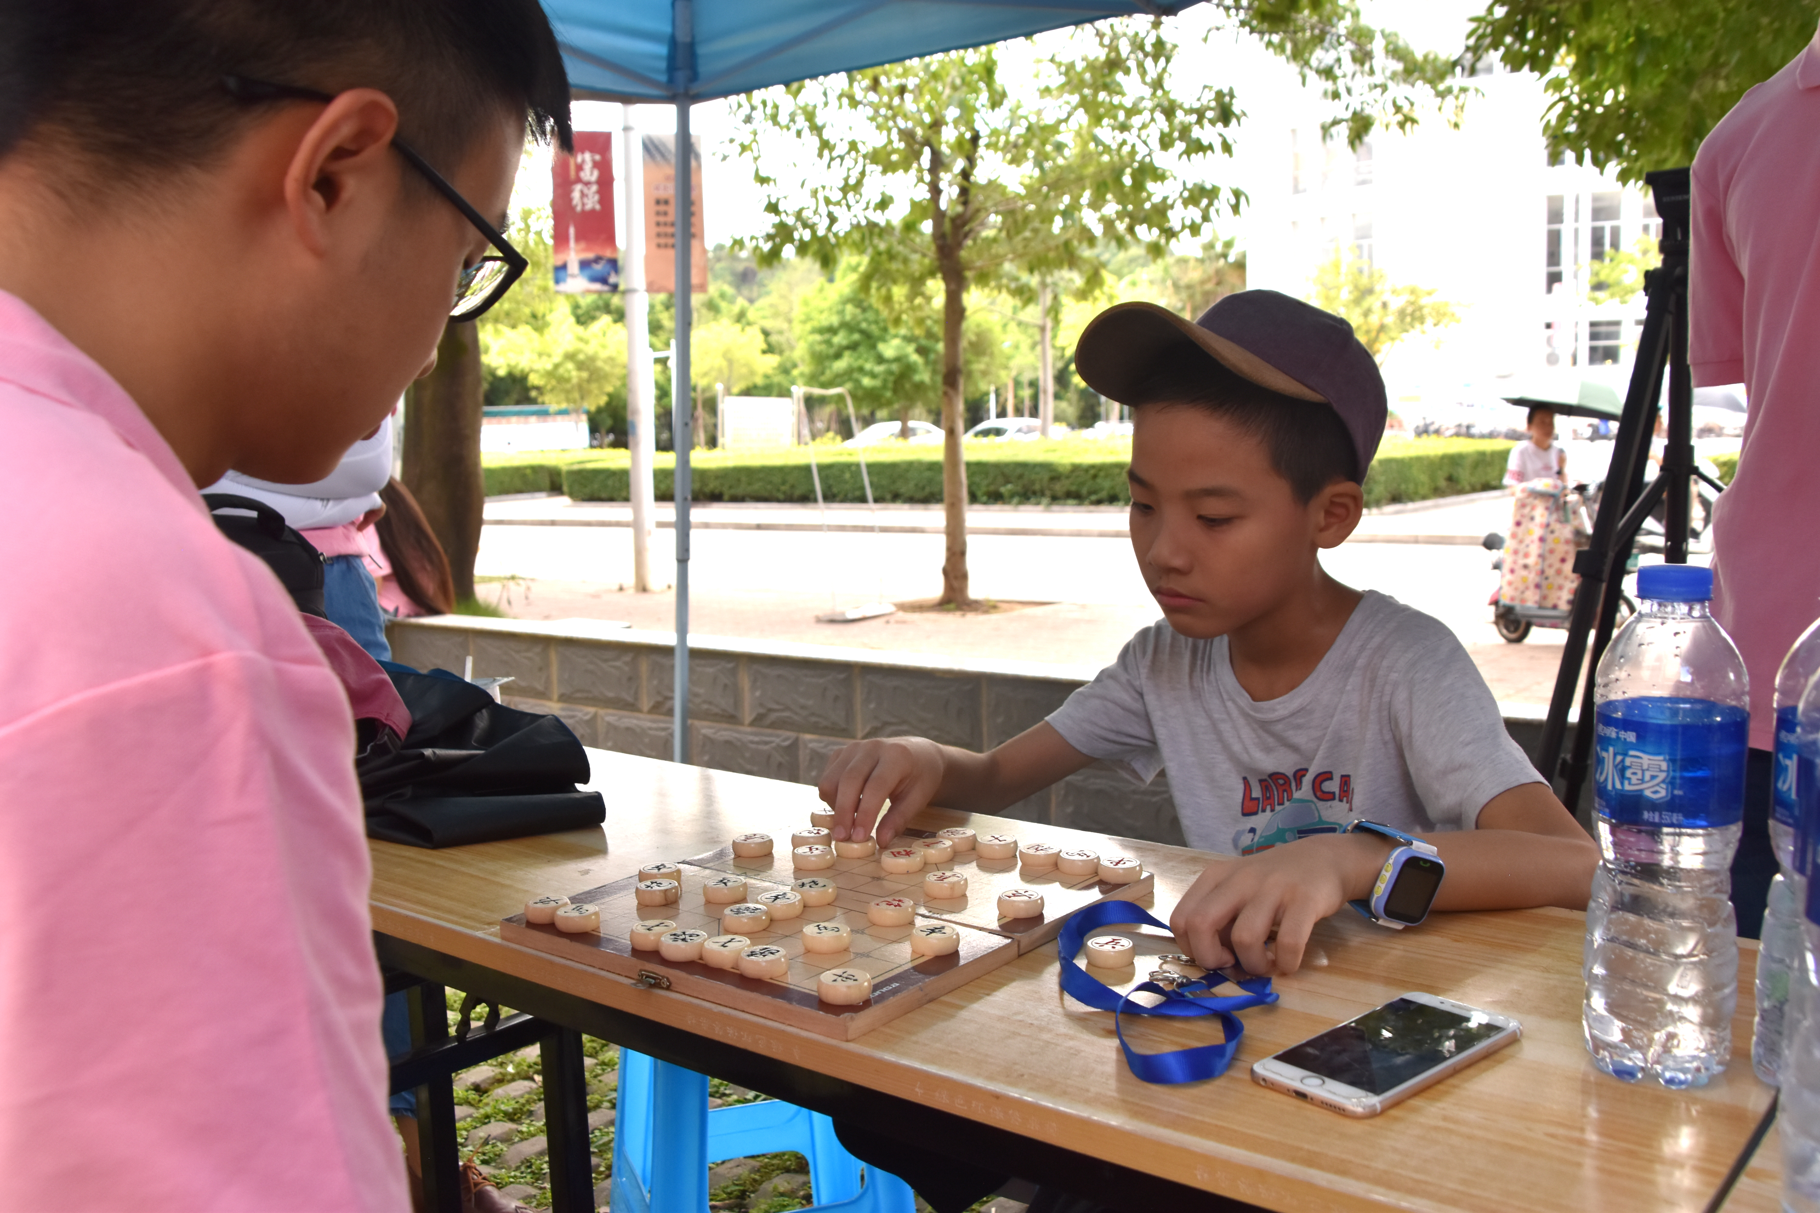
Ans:
[[[1618,826],[1718,829],[1744,820],[1751,713],[1640,695],[1598,706],[1592,804]]]

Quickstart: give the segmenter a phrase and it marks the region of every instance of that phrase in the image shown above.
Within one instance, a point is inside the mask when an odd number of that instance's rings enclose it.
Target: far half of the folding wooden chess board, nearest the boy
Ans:
[[[1056,829],[1054,826],[1032,826],[1026,822],[1014,824],[1017,827],[1019,842],[1052,842],[1063,849],[1087,847],[1101,855],[1117,851],[1110,838],[1099,835],[1085,835],[1077,829]],[[981,829],[979,833],[986,835],[992,831]],[[790,862],[790,829],[774,829],[770,835],[770,855],[743,858],[733,855],[732,846],[724,846],[719,851],[697,855],[688,862],[697,867],[713,867],[739,877],[770,880],[786,887],[792,880],[799,880],[803,877],[828,877],[841,886],[841,891],[835,895],[835,904],[857,909],[861,915],[864,915],[866,906],[881,897],[908,897],[917,904],[919,915],[941,918],[943,922],[952,922],[954,926],[970,926],[979,931],[992,931],[996,935],[1008,935],[1016,938],[1017,955],[1023,955],[1032,947],[1039,947],[1041,944],[1046,944],[1061,935],[1061,924],[1068,918],[1068,915],[1079,909],[1087,909],[1097,902],[1132,902],[1141,897],[1148,897],[1156,887],[1156,880],[1150,873],[1143,873],[1130,884],[1110,884],[1099,880],[1099,877],[1070,877],[1056,867],[1046,871],[1030,871],[1021,867],[1016,858],[981,858],[977,851],[956,851],[954,860],[946,864],[926,864],[921,871],[912,873],[885,871],[879,866],[877,855],[872,858],[835,858],[834,867],[824,867],[821,871],[795,871]],[[934,829],[912,827],[903,831],[892,846],[903,846],[906,840],[934,837]],[[966,877],[966,895],[943,898],[925,897],[923,877],[932,871],[963,873]],[[1043,915],[1037,918],[999,918],[999,893],[1006,893],[1010,889],[1036,889],[1041,893]]]

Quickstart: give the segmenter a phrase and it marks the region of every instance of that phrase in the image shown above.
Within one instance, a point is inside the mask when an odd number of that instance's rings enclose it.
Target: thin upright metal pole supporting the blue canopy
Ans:
[[[695,147],[690,140],[690,98],[688,87],[693,82],[695,65],[695,5],[692,0],[675,0],[675,78],[672,87],[677,95],[677,147],[675,147],[675,195],[672,215],[675,218],[675,353],[670,355],[670,438],[675,447],[675,533],[677,533],[677,649],[675,649],[675,720],[672,724],[672,758],[688,762],[688,504],[690,504],[690,451],[695,446],[695,400],[690,393],[690,289],[695,282]]]

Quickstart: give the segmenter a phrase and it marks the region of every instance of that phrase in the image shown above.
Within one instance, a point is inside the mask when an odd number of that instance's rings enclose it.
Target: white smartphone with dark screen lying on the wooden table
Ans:
[[[1522,1035],[1509,1015],[1407,993],[1254,1062],[1252,1080],[1347,1117],[1376,1117]]]

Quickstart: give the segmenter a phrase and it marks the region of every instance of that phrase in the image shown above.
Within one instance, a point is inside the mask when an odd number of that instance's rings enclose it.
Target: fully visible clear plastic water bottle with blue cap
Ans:
[[[1687,1088],[1731,1057],[1749,684],[1707,609],[1709,569],[1649,566],[1636,582],[1642,609],[1594,684],[1603,862],[1587,904],[1582,1022],[1605,1073]]]

